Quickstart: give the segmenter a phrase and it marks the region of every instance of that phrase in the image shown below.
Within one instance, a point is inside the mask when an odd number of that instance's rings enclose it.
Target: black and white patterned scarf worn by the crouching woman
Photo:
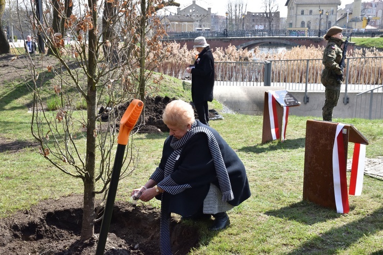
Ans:
[[[222,158],[221,150],[218,146],[217,140],[210,130],[203,126],[197,126],[197,121],[192,125],[190,131],[188,131],[181,139],[173,137],[170,146],[174,149],[173,153],[167,159],[164,169],[164,179],[161,181],[159,187],[164,189],[170,194],[178,194],[187,188],[191,188],[190,185],[178,185],[171,178],[170,174],[174,171],[174,166],[179,158],[182,147],[185,143],[194,135],[199,133],[205,133],[207,136],[207,143],[213,159],[214,168],[216,169],[219,188],[222,192],[222,201],[230,201],[234,199],[234,194],[231,190],[231,184],[229,180],[229,174],[227,173],[225,163]],[[160,219],[160,251],[162,255],[172,254],[171,242],[170,242],[170,228],[169,220],[170,213],[167,208],[169,206],[169,200],[162,199],[161,196],[161,219]]]

